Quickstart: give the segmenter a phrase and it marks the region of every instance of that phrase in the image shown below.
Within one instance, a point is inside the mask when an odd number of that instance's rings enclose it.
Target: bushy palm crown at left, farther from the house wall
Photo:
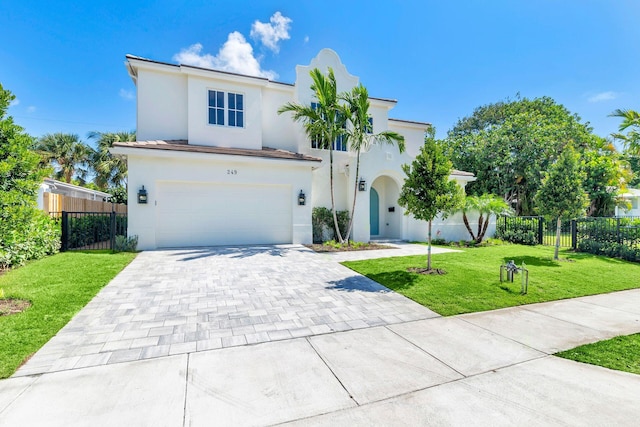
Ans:
[[[86,169],[91,155],[91,148],[80,140],[76,134],[54,133],[42,136],[34,147],[42,158],[52,162],[57,169],[55,177],[70,183],[74,175],[86,176]]]

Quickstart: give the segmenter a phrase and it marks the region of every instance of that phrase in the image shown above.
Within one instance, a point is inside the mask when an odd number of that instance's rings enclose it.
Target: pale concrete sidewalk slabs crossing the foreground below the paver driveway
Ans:
[[[640,376],[551,354],[635,332],[640,290],[196,349],[0,381],[0,425],[631,426]]]

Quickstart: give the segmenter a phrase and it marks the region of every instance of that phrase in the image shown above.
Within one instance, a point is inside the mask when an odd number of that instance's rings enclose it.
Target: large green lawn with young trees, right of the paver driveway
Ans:
[[[640,264],[568,250],[560,258],[553,261],[553,247],[503,245],[433,255],[432,266],[445,275],[407,271],[426,267],[426,255],[343,264],[443,316],[640,287]],[[519,274],[500,283],[500,265],[512,259],[527,264],[527,295],[520,295]]]

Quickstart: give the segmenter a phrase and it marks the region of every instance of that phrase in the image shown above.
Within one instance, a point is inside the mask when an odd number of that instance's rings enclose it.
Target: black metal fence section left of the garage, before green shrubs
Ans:
[[[54,215],[52,215],[54,216]],[[113,249],[116,236],[127,236],[127,214],[117,212],[66,212],[60,221],[60,250]]]

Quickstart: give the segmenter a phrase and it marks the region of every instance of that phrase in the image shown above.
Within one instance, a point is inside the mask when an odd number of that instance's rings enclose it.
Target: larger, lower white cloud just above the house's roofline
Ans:
[[[260,67],[260,62],[253,56],[253,47],[237,31],[229,34],[217,55],[202,53],[202,44],[196,43],[173,55],[173,60],[180,64],[266,77],[272,80],[278,76],[274,71],[263,70]]]

